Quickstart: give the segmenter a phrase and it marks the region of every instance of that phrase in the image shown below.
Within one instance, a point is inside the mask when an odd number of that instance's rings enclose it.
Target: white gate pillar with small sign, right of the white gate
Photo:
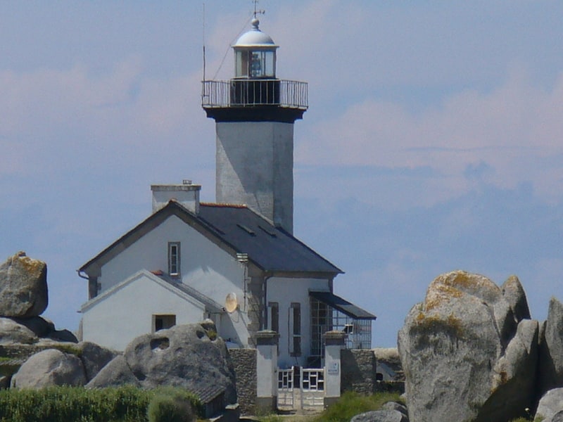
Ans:
[[[340,397],[341,362],[340,351],[345,347],[346,333],[327,331],[324,333],[324,407]]]

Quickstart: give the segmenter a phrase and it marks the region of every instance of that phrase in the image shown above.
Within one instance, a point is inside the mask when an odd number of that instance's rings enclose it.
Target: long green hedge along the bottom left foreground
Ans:
[[[0,422],[140,422],[157,396],[184,397],[192,409],[198,399],[181,389],[143,390],[132,386],[86,389],[0,390]]]

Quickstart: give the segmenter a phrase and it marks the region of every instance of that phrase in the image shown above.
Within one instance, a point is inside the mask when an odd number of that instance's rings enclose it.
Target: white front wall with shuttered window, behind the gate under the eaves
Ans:
[[[308,354],[311,348],[311,320],[309,291],[329,291],[329,280],[327,279],[288,279],[272,277],[267,281],[266,302],[279,303],[279,357],[280,368],[292,365],[303,366],[307,364]],[[288,326],[289,309],[291,302],[301,303],[301,357],[291,357],[289,352]],[[270,322],[268,323],[270,324]]]

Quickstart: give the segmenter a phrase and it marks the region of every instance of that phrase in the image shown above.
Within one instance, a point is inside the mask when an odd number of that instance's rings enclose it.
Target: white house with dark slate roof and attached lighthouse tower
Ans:
[[[217,203],[201,186],[153,185],[153,213],[84,264],[82,338],[122,350],[137,335],[210,318],[232,347],[279,333],[280,366],[321,363],[322,334],[371,347],[373,314],[332,293],[341,270],[293,236],[293,124],[303,82],[275,77],[258,29],[234,44],[236,76],[203,82],[217,129]]]

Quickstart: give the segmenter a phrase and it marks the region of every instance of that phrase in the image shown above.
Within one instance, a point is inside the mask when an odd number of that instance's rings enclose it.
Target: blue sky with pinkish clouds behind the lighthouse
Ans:
[[[374,347],[439,274],[563,300],[563,2],[261,0],[295,124],[294,234],[378,316]],[[204,13],[205,11],[205,13]],[[207,79],[233,74],[250,0],[0,1],[0,261],[48,265],[57,328],[76,269],[148,217],[151,184],[215,200]],[[205,18],[204,18],[205,15]]]

